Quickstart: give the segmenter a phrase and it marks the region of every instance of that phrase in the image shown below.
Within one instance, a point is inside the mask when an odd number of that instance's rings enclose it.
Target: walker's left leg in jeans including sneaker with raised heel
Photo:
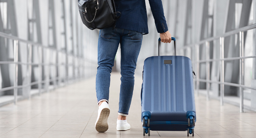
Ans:
[[[98,132],[108,130],[108,116],[110,113],[108,106],[110,73],[114,66],[120,36],[117,29],[105,28],[100,30],[98,41],[98,68],[96,75],[96,96],[99,104],[98,117],[95,129]]]

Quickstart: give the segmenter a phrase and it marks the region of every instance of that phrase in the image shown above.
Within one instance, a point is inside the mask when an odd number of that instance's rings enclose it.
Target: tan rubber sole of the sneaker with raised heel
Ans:
[[[108,130],[108,116],[110,110],[108,108],[104,108],[100,112],[99,120],[96,123],[95,129],[98,132],[105,132]]]

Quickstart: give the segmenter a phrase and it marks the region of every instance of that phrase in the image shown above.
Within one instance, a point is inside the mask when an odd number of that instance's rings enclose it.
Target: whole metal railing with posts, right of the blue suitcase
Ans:
[[[256,88],[254,87],[248,87],[244,85],[244,59],[246,58],[256,58],[256,55],[252,55],[252,56],[244,56],[244,32],[248,31],[250,29],[254,29],[256,28],[256,23],[252,24],[252,25],[248,25],[236,30],[232,30],[229,32],[226,32],[224,34],[221,35],[217,35],[214,37],[210,37],[204,40],[201,40],[199,42],[193,43],[193,44],[188,44],[184,47],[178,47],[178,50],[181,50],[182,52],[184,52],[184,50],[188,50],[190,51],[191,48],[195,48],[195,54],[196,54],[196,58],[195,60],[192,61],[192,63],[196,63],[196,67],[197,67],[197,72],[198,75],[196,76],[195,81],[197,82],[196,84],[196,89],[197,89],[197,95],[199,94],[199,82],[206,82],[207,83],[207,94],[206,94],[206,99],[209,99],[209,91],[210,91],[210,83],[217,83],[220,84],[220,102],[221,105],[223,105],[223,98],[224,98],[224,85],[229,85],[229,86],[234,86],[234,87],[239,87],[239,91],[240,91],[240,112],[243,112],[243,89],[247,88],[247,89],[251,89],[251,90],[256,90]],[[224,57],[224,37],[227,36],[231,36],[234,34],[238,34],[239,33],[239,49],[240,49],[240,56],[239,57]],[[210,50],[209,50],[209,42],[210,41],[216,41],[219,39],[220,42],[220,58],[215,58],[215,59],[210,59],[209,54],[210,54]],[[255,39],[255,38],[254,38]],[[200,51],[200,44],[204,44],[203,47],[206,48],[206,58],[204,60],[200,60],[199,58],[199,51]],[[191,52],[191,51],[190,51]],[[224,61],[234,61],[234,60],[240,60],[240,64],[239,64],[239,68],[240,68],[240,73],[239,73],[239,84],[237,83],[230,83],[230,82],[225,82],[224,81]],[[217,61],[220,64],[220,81],[212,81],[210,80],[210,62],[214,62]],[[206,79],[200,79],[199,77],[199,72],[200,72],[200,63],[206,63]]]

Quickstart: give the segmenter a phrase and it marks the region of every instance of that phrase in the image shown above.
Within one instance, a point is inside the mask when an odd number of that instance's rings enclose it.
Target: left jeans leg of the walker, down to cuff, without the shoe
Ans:
[[[114,66],[120,36],[117,29],[105,28],[100,30],[98,41],[98,67],[96,74],[96,96],[98,104],[105,100],[108,103],[110,73]]]

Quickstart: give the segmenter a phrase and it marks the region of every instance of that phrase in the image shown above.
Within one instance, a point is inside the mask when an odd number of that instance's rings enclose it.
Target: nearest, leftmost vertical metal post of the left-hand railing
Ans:
[[[17,99],[18,99],[18,52],[19,50],[19,46],[18,46],[18,40],[14,40],[14,50],[13,50],[13,54],[14,54],[14,82],[13,82],[13,86],[14,86],[14,90],[13,90],[13,95],[14,95],[14,104],[17,104]]]

